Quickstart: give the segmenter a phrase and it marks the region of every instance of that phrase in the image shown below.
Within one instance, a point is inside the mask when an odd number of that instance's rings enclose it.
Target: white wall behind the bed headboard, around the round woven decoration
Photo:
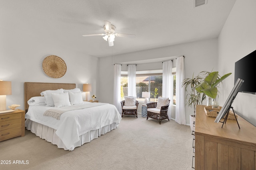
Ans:
[[[91,83],[92,93],[97,94],[98,57],[79,53],[48,38],[42,40],[32,33],[12,36],[12,28],[7,26],[1,30],[0,80],[12,82],[12,95],[6,96],[7,109],[11,104],[20,104],[17,109],[24,109],[24,82],[76,83],[81,90],[82,84]],[[67,71],[61,78],[50,78],[42,70],[42,61],[48,55],[65,61]]]

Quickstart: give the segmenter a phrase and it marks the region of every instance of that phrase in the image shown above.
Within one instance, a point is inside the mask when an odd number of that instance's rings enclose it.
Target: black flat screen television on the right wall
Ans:
[[[244,80],[239,92],[256,94],[256,50],[235,63],[235,81]]]

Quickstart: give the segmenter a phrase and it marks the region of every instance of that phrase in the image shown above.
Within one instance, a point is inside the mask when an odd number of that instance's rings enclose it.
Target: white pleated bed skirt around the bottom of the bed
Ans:
[[[104,135],[112,131],[113,129],[116,129],[116,123],[106,125],[100,129],[92,130],[81,135],[79,137],[80,140],[77,143],[74,143],[74,145],[70,149],[67,149],[62,140],[55,134],[56,129],[52,129],[51,127],[48,127],[46,125],[31,121],[30,119],[26,119],[25,127],[41,139],[45,139],[47,142],[50,142],[53,145],[57,145],[58,148],[62,148],[64,150],[74,150],[76,147],[80,147],[84,143],[88,143],[93,139],[100,137],[100,135]]]

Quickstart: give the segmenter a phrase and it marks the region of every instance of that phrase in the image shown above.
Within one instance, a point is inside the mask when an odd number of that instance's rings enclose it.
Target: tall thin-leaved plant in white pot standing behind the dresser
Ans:
[[[196,105],[202,105],[205,99],[205,95],[201,96],[201,93],[196,91],[196,86],[201,84],[204,80],[205,74],[208,72],[202,71],[197,76],[192,78],[186,78],[182,81],[182,87],[185,86],[185,91],[188,92],[186,95],[186,105],[194,109],[194,115],[190,115],[190,129],[194,131],[194,122],[196,121]]]

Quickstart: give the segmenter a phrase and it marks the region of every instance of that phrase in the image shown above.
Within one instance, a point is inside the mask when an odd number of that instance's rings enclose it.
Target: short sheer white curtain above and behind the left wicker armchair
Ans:
[[[136,65],[128,65],[128,96],[136,97]]]

